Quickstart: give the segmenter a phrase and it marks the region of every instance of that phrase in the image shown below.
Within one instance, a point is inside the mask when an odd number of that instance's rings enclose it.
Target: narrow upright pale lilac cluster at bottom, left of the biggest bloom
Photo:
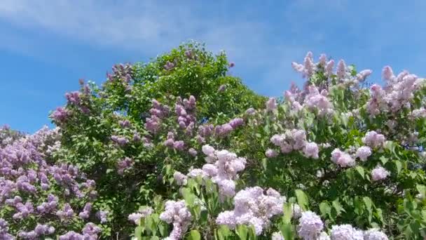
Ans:
[[[181,201],[166,201],[165,211],[160,214],[160,220],[173,224],[172,232],[167,237],[170,240],[181,239],[184,233],[188,230],[191,223],[192,215],[186,208],[184,200]]]

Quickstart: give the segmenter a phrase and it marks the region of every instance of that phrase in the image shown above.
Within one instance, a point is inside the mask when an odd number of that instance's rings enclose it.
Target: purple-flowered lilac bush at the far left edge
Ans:
[[[71,206],[69,200],[73,198],[87,203],[78,221],[90,215],[88,201],[96,195],[94,182],[76,166],[49,164],[45,160],[48,154],[43,151],[51,149],[58,134],[58,129],[42,128],[0,148],[0,206],[11,208],[0,220],[1,239],[13,239],[11,235],[16,234],[20,239],[60,234],[63,225],[51,222],[78,220],[74,211],[81,206]],[[35,228],[18,225],[20,220],[34,222]]]

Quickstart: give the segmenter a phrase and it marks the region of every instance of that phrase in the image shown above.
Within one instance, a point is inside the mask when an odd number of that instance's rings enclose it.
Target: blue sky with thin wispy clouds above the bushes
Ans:
[[[225,50],[232,74],[263,95],[301,79],[291,61],[327,53],[370,81],[391,65],[426,76],[426,1],[95,1],[0,3],[0,124],[34,132],[78,79],[194,39]]]

